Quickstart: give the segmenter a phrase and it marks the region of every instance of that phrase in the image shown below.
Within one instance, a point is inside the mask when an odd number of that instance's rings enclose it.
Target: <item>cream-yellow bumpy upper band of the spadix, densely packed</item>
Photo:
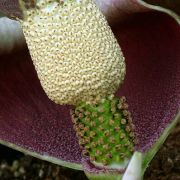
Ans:
[[[93,0],[39,0],[21,21],[41,85],[58,104],[113,94],[125,76],[120,47]]]

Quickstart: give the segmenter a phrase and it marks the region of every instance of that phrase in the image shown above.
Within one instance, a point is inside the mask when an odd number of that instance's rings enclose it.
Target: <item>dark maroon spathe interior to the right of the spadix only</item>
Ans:
[[[175,117],[180,105],[180,27],[165,14],[146,13],[116,31],[127,74],[118,95],[130,105],[145,151]]]

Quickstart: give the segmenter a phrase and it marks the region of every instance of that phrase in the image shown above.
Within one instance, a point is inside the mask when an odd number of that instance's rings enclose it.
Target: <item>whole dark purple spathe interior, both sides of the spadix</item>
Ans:
[[[127,63],[118,95],[129,102],[137,149],[148,150],[179,108],[180,29],[167,15],[146,13],[114,31]],[[62,160],[81,161],[69,107],[47,98],[27,50],[0,57],[0,139]]]

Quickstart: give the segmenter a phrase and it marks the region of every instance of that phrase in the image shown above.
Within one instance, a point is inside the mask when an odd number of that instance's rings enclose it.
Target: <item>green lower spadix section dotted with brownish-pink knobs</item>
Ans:
[[[71,115],[84,157],[97,166],[126,167],[136,142],[125,97],[83,103]]]

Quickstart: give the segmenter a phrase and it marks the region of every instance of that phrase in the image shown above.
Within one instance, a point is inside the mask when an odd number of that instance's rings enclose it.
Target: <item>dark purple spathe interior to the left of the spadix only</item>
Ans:
[[[0,82],[0,139],[79,163],[69,107],[48,99],[28,51],[1,57]]]

